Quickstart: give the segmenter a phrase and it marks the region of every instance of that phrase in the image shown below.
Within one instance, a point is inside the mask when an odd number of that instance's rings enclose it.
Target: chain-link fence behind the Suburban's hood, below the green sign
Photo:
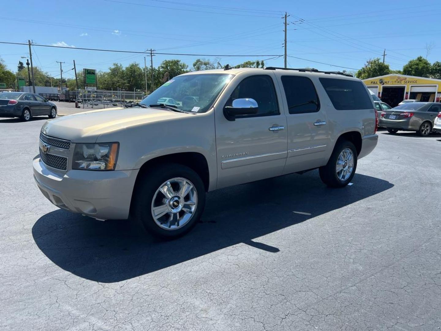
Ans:
[[[82,108],[109,108],[130,107],[133,103],[140,102],[145,93],[120,90],[77,90],[76,95],[76,101]]]

